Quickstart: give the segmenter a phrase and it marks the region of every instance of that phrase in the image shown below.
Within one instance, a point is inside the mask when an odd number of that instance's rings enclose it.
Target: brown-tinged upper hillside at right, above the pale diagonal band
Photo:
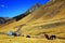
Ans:
[[[54,1],[42,5],[27,17],[20,20],[21,23],[34,24],[50,19],[58,19],[65,17],[65,1]]]

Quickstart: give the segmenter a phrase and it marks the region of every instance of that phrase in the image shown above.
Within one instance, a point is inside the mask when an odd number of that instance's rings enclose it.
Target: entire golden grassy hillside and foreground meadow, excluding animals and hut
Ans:
[[[21,27],[18,32],[24,34],[24,37],[1,34],[0,42],[65,43],[65,0],[51,0],[18,22],[0,27],[0,32],[14,32],[18,27]],[[56,35],[56,40],[47,40],[44,37],[46,33],[49,35]],[[26,38],[26,35],[30,35],[30,38]]]

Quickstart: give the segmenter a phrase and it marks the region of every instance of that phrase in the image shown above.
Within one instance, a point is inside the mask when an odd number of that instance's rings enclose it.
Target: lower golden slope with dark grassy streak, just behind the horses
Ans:
[[[65,28],[65,19],[50,20],[50,22],[44,22],[36,25],[24,26],[22,28],[22,32],[24,34],[32,34],[32,35],[37,35],[39,33],[60,34],[60,33],[65,33],[64,28]]]

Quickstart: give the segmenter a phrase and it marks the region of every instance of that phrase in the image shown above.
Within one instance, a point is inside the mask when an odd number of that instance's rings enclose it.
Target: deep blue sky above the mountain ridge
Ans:
[[[25,13],[35,3],[47,2],[49,0],[0,0],[0,17],[14,17]]]

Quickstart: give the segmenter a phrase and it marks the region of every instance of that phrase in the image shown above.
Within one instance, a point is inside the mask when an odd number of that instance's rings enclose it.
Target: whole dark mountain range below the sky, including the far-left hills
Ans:
[[[32,13],[35,10],[37,10],[37,9],[40,8],[40,6],[41,6],[41,4],[36,3],[36,4],[34,4],[30,9],[28,9],[25,13],[20,14],[20,15],[17,15],[17,16],[14,16],[13,18],[10,18],[10,19],[9,19],[9,17],[1,17],[1,18],[0,18],[0,24],[1,24],[1,25],[2,25],[2,24],[5,24],[5,23],[12,24],[12,23],[14,23],[14,22],[18,22],[20,19],[22,19],[22,18],[24,18],[25,16],[27,16],[28,14]],[[30,12],[30,11],[31,11],[31,12]],[[1,26],[1,25],[0,25],[0,26]]]

